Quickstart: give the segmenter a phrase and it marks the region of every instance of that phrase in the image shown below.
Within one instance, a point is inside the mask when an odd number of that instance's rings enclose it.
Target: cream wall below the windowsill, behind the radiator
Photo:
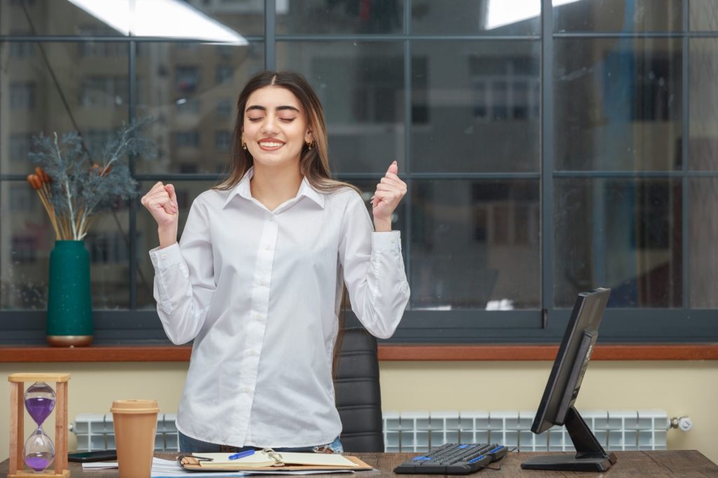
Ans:
[[[382,362],[383,409],[533,411],[550,367],[550,362]],[[9,383],[4,377],[12,372],[72,373],[71,422],[78,413],[108,413],[118,398],[156,398],[161,411],[173,413],[186,370],[187,362],[0,363],[0,460],[9,456]],[[439,386],[432,388],[432,383]],[[718,361],[594,361],[577,405],[579,410],[661,408],[668,416],[689,415],[693,430],[669,431],[668,448],[697,449],[718,462],[717,396]],[[54,423],[53,416],[47,423]],[[29,417],[25,421],[31,430]],[[73,449],[75,436],[68,436]]]

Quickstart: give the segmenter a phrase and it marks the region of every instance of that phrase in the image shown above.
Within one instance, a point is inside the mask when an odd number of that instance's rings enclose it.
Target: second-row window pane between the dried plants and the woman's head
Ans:
[[[151,137],[159,157],[137,172],[222,172],[237,97],[263,65],[264,44],[138,44],[137,114],[157,118]]]

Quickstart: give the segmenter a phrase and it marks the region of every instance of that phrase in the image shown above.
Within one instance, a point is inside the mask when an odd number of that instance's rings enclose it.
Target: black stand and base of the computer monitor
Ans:
[[[566,413],[566,430],[576,454],[534,456],[521,464],[523,469],[556,469],[566,472],[605,472],[616,462],[607,454],[574,406]]]

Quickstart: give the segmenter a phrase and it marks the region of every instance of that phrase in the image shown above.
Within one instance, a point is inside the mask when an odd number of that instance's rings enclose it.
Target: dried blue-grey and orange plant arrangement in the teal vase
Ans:
[[[143,136],[151,121],[141,118],[123,123],[95,163],[77,132],[33,136],[29,158],[37,167],[27,182],[45,207],[57,240],[82,240],[96,212],[136,197],[137,182],[127,159],[129,155],[154,158],[154,143]]]

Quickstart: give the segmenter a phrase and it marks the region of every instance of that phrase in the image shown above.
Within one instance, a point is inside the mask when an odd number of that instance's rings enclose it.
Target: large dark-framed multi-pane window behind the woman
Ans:
[[[0,341],[44,340],[53,236],[24,182],[29,138],[76,129],[99,154],[154,116],[157,158],[132,170],[143,190],[175,184],[181,232],[264,69],[313,85],[332,171],[366,200],[398,160],[412,294],[391,341],[556,342],[597,286],[613,289],[603,340],[718,340],[717,2],[180,3],[236,41],[0,0]],[[86,243],[98,342],[163,340],[151,217],[117,205]]]

